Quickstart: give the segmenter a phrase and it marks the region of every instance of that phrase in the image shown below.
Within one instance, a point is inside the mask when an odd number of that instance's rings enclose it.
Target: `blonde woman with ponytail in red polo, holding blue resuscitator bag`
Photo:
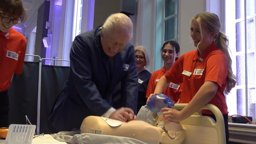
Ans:
[[[162,109],[166,121],[185,120],[206,104],[217,106],[223,114],[228,142],[228,107],[224,93],[230,93],[236,85],[228,52],[228,38],[220,32],[219,17],[210,12],[196,15],[191,21],[190,30],[197,50],[182,55],[160,78],[154,93],[161,93],[170,81],[182,83],[179,103],[188,105],[181,111]],[[211,111],[205,110],[202,114],[216,121]]]

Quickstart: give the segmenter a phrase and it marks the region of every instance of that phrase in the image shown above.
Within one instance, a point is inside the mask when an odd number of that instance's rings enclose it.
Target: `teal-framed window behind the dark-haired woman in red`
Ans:
[[[162,44],[167,40],[177,41],[177,9],[178,0],[156,1],[155,70],[164,66],[160,51]]]

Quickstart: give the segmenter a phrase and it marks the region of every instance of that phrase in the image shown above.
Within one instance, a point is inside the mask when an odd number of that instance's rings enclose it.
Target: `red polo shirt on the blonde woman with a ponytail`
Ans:
[[[184,71],[191,72],[191,75],[182,74]],[[208,104],[217,106],[222,114],[227,114],[228,107],[224,96],[227,75],[226,56],[216,48],[213,42],[201,56],[198,56],[198,50],[182,55],[165,74],[165,77],[174,83],[182,83],[179,103],[189,103],[204,82],[216,82],[218,84],[217,93]],[[202,113],[213,114],[208,110]]]

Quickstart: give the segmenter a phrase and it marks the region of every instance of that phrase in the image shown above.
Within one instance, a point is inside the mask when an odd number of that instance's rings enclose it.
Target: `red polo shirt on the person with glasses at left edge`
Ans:
[[[13,73],[22,73],[26,46],[26,38],[15,29],[0,32],[0,92],[10,87]]]

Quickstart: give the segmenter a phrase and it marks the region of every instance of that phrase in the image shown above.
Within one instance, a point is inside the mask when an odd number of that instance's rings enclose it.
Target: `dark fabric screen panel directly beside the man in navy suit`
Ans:
[[[70,67],[42,65],[40,133],[57,133],[48,122],[52,106],[68,78]]]

